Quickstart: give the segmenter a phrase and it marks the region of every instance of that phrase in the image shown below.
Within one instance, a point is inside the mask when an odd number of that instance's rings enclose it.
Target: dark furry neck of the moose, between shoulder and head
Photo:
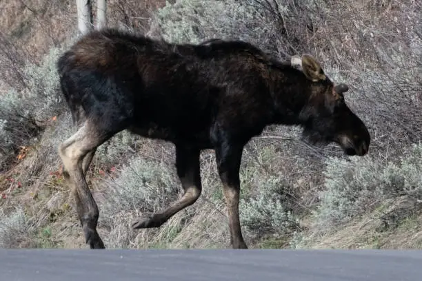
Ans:
[[[311,81],[292,67],[274,70],[272,75],[273,123],[301,125],[301,111],[308,106]]]

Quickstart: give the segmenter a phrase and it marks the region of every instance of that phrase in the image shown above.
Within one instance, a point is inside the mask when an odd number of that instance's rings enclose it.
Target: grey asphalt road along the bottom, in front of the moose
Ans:
[[[1,249],[0,280],[421,281],[422,251]]]

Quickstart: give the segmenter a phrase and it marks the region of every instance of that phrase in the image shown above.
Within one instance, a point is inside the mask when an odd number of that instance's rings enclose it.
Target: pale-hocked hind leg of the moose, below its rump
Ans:
[[[68,174],[77,205],[77,213],[91,249],[103,249],[104,244],[97,233],[99,209],[86,183],[86,170],[95,150],[112,134],[90,121],[59,147],[59,155]]]

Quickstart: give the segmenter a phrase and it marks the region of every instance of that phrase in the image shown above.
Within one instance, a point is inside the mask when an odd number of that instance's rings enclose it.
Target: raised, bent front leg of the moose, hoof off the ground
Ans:
[[[134,220],[134,229],[161,227],[164,222],[178,211],[192,205],[201,195],[201,176],[199,169],[199,149],[186,149],[176,147],[177,175],[181,180],[184,190],[183,196],[172,203],[170,207],[157,214],[143,214],[141,218]]]

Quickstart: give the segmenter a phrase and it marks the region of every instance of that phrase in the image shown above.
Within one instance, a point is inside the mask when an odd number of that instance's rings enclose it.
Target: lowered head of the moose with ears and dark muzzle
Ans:
[[[344,94],[349,87],[334,85],[310,54],[293,56],[291,64],[308,80],[308,103],[299,114],[303,136],[311,143],[338,143],[345,154],[363,156],[368,152],[370,134],[361,119],[350,110]]]

